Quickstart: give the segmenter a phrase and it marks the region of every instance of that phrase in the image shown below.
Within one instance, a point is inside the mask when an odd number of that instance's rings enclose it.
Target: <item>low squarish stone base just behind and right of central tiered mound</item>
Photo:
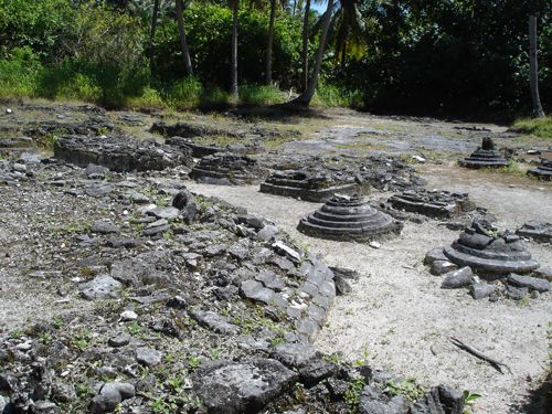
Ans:
[[[407,190],[389,199],[394,210],[423,214],[435,219],[452,219],[476,210],[467,193],[437,190]]]

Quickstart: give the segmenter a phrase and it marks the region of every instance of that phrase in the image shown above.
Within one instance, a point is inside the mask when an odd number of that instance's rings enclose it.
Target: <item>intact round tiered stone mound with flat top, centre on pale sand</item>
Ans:
[[[362,197],[333,195],[297,227],[312,237],[372,242],[397,235],[402,223],[370,206]]]

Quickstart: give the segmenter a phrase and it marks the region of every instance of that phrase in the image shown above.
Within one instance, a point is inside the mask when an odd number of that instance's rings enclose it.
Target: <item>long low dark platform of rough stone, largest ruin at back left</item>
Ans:
[[[65,136],[54,142],[57,159],[86,167],[89,163],[117,172],[163,170],[178,166],[191,167],[191,152],[127,136]]]

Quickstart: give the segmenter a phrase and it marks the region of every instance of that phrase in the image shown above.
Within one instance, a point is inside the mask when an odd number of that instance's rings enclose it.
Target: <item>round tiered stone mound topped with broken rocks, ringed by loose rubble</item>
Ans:
[[[469,266],[481,275],[523,274],[539,267],[520,236],[508,230],[498,233],[482,220],[474,221],[471,227],[464,231],[450,247],[445,247],[443,253],[452,263]]]

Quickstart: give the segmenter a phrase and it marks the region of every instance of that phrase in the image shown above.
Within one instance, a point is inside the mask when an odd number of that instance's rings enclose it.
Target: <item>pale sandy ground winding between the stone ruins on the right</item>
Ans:
[[[514,227],[527,220],[552,217],[552,190],[527,179],[456,167],[429,167],[423,176],[429,187],[469,191],[491,208],[500,226]],[[506,178],[505,178],[506,177]],[[353,291],[338,297],[327,328],[317,340],[326,352],[341,351],[354,360],[369,353],[375,368],[411,375],[424,385],[447,383],[484,395],[476,412],[519,413],[534,380],[548,363],[546,331],[552,320],[551,294],[519,305],[474,300],[466,290],[439,289],[442,277],[422,265],[425,253],[453,242],[458,232],[429,221],[406,223],[402,235],[380,250],[363,244],[321,241],[297,232],[299,219],[318,204],[258,192],[258,187],[189,184],[194,192],[215,195],[273,220],[302,245],[310,246],[330,265],[358,270]],[[552,265],[552,248],[531,244],[543,265]],[[454,347],[456,337],[506,362],[512,373],[492,367]]]

